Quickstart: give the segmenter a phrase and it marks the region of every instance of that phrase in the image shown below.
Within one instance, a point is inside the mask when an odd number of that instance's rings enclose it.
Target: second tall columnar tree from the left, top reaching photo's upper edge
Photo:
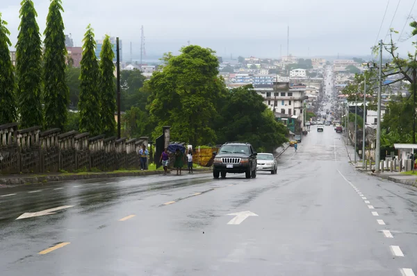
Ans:
[[[41,40],[33,1],[23,0],[16,44],[17,110],[22,128],[42,126]]]

